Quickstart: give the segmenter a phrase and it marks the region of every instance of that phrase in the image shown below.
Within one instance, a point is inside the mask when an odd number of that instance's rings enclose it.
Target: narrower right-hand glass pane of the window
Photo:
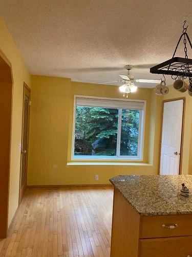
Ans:
[[[138,110],[122,110],[121,156],[138,155],[139,115],[140,112]]]

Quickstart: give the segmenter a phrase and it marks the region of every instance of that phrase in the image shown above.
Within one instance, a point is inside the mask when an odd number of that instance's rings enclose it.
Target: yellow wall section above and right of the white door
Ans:
[[[180,93],[175,90],[173,86],[169,86],[169,93],[163,97],[163,100],[185,98],[184,108],[184,132],[183,132],[183,158],[182,158],[182,174],[192,175],[192,97],[188,95],[188,92]]]

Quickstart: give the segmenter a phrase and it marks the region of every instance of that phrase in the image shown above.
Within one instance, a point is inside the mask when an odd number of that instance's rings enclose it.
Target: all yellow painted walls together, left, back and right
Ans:
[[[28,185],[69,185],[109,183],[119,174],[157,174],[162,100],[185,97],[182,174],[192,174],[192,98],[169,87],[159,97],[153,89],[139,88],[130,98],[147,100],[144,160],[138,163],[71,163],[71,139],[74,95],[122,98],[118,87],[71,82],[70,79],[31,76],[5,23],[0,17],[0,49],[12,64],[13,112],[9,190],[9,224],[18,206],[22,134],[23,83],[32,84]],[[95,174],[99,181],[95,181]]]

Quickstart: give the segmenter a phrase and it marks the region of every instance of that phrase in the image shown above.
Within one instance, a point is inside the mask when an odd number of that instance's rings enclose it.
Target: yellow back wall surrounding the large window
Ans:
[[[147,100],[145,163],[137,165],[127,162],[124,165],[112,162],[110,165],[67,165],[71,160],[74,95],[122,98],[118,87],[32,76],[32,89],[28,185],[109,183],[109,178],[118,174],[157,174],[161,101],[151,89],[139,88],[137,93],[130,94],[130,98]],[[155,154],[148,144],[155,148]],[[99,181],[95,181],[95,174],[99,175]]]

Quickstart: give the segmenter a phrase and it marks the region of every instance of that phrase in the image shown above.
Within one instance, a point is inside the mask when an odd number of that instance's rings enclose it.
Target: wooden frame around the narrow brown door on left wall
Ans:
[[[23,146],[23,127],[24,127],[24,100],[25,100],[25,89],[27,89],[30,92],[30,96],[31,96],[31,89],[30,87],[24,82],[23,85],[23,115],[22,115],[22,145],[21,145],[21,153],[20,153],[20,174],[19,174],[19,202],[18,204],[21,203],[22,201],[22,195],[21,195],[21,180],[22,180],[22,146]],[[31,101],[31,98],[29,99],[29,101]],[[29,104],[29,119],[28,119],[28,135],[27,135],[27,148],[29,149],[29,124],[30,124],[30,104]],[[28,173],[28,151],[27,151],[27,173]],[[27,174],[26,173],[26,174]],[[27,179],[27,176],[26,176]],[[27,188],[27,185],[26,185]]]

